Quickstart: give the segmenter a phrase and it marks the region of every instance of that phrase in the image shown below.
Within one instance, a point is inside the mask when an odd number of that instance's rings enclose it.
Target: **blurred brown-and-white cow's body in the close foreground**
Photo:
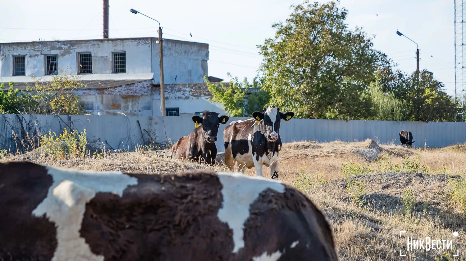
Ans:
[[[0,260],[338,260],[305,195],[240,173],[0,163],[0,213]]]

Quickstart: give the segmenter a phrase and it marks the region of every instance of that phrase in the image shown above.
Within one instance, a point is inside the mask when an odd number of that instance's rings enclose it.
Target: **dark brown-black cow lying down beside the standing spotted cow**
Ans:
[[[171,155],[175,159],[200,161],[214,165],[217,156],[215,141],[217,141],[219,123],[226,124],[228,116],[218,117],[218,113],[209,111],[204,111],[201,115],[202,118],[198,115],[192,116],[196,128],[188,136],[179,138],[171,149]]]

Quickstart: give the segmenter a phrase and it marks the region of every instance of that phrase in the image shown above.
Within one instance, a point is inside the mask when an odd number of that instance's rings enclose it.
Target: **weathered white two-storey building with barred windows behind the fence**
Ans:
[[[208,101],[209,45],[164,39],[163,48],[166,114],[225,113]],[[6,86],[13,81],[24,89],[32,76],[49,81],[61,70],[78,74],[87,86],[76,94],[89,113],[161,115],[157,38],[0,43],[0,82]]]

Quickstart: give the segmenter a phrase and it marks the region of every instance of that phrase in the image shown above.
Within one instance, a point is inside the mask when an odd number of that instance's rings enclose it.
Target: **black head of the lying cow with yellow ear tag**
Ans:
[[[226,124],[228,121],[228,116],[222,115],[220,117],[216,112],[202,112],[202,118],[198,115],[192,116],[192,121],[194,121],[194,125],[196,128],[201,125],[202,127],[202,134],[204,139],[207,142],[213,143],[217,141],[217,133],[219,132],[219,124]]]

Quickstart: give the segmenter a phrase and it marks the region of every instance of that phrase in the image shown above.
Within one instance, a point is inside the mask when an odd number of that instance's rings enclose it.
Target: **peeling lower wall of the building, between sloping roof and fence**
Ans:
[[[161,116],[160,87],[151,80],[107,89],[80,89],[80,103],[93,115]],[[212,97],[205,83],[165,85],[165,107],[179,108],[179,114],[205,110],[225,114],[220,104],[208,101]]]

